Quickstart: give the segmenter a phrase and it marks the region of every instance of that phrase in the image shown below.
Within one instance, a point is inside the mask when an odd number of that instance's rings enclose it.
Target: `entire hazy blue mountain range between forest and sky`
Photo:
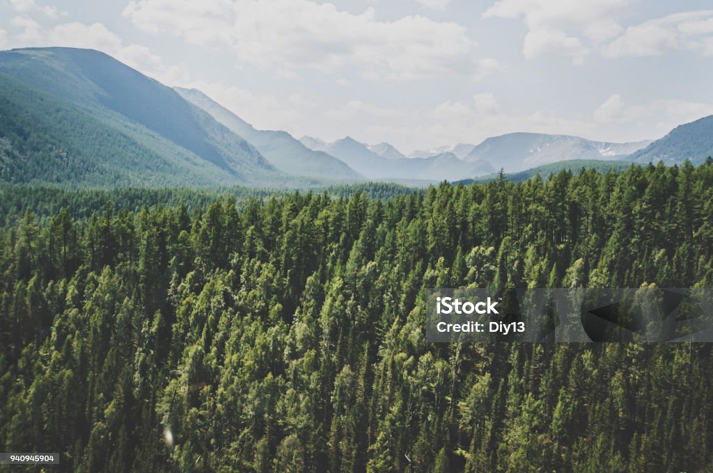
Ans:
[[[406,157],[387,142],[297,140],[284,131],[257,130],[199,90],[170,88],[98,51],[0,51],[1,182],[74,187],[434,182],[501,169],[554,169],[569,160],[590,167],[612,161],[697,164],[712,153],[710,116],[654,142],[516,132]]]

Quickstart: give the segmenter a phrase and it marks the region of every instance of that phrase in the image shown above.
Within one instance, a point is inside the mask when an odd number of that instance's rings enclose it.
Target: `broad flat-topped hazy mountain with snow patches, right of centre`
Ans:
[[[506,172],[565,160],[617,160],[650,144],[650,141],[610,143],[568,135],[509,133],[488,138],[473,148],[466,161],[487,160]]]

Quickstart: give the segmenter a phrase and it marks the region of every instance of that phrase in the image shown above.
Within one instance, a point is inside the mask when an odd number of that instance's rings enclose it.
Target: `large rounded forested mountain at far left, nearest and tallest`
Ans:
[[[175,90],[104,53],[0,52],[0,178],[75,186],[260,184],[285,176]]]

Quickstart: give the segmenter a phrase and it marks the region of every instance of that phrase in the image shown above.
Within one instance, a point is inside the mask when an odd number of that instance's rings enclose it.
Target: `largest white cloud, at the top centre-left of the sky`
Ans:
[[[351,14],[309,0],[132,0],[123,15],[143,31],[228,46],[238,61],[283,72],[359,68],[366,78],[404,80],[498,70],[494,59],[476,58],[461,25],[418,15],[378,21],[373,8]]]

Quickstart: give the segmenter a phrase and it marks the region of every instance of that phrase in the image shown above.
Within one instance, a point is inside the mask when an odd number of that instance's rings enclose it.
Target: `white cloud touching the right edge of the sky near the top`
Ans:
[[[629,26],[607,45],[604,56],[661,56],[671,51],[713,53],[713,10],[672,14]]]

